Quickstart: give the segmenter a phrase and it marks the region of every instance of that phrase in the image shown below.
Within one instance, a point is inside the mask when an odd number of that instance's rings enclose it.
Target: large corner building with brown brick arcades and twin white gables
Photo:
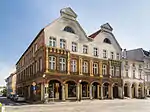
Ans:
[[[71,8],[43,28],[16,63],[27,99],[122,98],[121,47],[106,23],[87,36]]]

